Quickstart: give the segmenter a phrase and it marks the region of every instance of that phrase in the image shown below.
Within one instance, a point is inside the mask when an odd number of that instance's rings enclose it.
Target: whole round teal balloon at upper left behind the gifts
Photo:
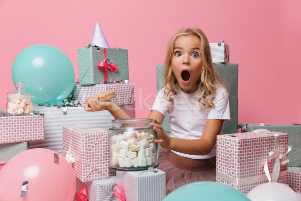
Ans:
[[[45,44],[25,48],[16,57],[12,76],[14,83],[24,81],[25,90],[38,105],[58,104],[66,99],[75,82],[73,65],[60,49]]]

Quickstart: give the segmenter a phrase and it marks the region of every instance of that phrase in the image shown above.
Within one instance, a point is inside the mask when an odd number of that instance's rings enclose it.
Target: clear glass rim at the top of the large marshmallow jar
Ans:
[[[117,119],[117,120],[112,120],[112,128],[113,129],[151,128],[149,124],[152,122],[153,119],[149,119],[149,118]]]

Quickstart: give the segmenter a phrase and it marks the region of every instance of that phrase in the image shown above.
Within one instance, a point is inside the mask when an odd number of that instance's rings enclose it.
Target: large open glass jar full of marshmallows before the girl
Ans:
[[[109,129],[110,167],[137,171],[156,168],[158,161],[157,132],[149,123],[153,119],[120,119]]]

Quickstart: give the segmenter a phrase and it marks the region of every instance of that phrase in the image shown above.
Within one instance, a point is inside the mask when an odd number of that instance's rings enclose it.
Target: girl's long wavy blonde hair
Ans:
[[[164,65],[165,83],[162,88],[164,88],[164,95],[169,102],[168,107],[174,106],[174,96],[179,92],[179,90],[181,90],[180,84],[172,71],[172,60],[174,57],[175,43],[179,37],[183,36],[196,36],[201,41],[200,52],[203,59],[203,67],[201,76],[198,80],[198,90],[200,94],[198,103],[200,110],[210,110],[214,107],[213,99],[216,94],[216,87],[224,86],[221,82],[220,77],[215,72],[211,59],[210,46],[206,35],[200,29],[190,28],[182,29],[178,33],[176,33],[170,40],[167,47],[167,54]]]

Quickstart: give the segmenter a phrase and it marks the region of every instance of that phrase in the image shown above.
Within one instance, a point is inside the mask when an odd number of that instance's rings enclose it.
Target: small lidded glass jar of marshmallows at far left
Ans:
[[[24,87],[25,82],[15,82],[16,89],[8,92],[7,113],[10,115],[29,115],[33,111],[31,94]]]

